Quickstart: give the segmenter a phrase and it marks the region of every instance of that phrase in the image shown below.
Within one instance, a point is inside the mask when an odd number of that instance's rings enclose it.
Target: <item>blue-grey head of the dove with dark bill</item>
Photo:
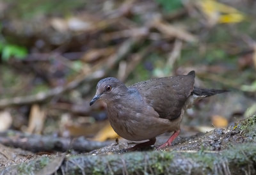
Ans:
[[[104,100],[106,103],[111,102],[125,91],[127,91],[127,87],[120,80],[114,77],[102,79],[97,84],[96,94],[91,100],[90,105],[93,105],[99,99]]]

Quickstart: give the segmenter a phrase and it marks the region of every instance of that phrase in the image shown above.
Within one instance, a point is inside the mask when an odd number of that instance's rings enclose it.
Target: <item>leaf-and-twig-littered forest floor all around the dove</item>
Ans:
[[[0,1],[0,174],[255,174],[256,2]],[[89,103],[195,70],[227,89],[195,103],[170,148],[133,146]],[[155,146],[170,133],[157,137]],[[117,139],[116,139],[117,138]]]

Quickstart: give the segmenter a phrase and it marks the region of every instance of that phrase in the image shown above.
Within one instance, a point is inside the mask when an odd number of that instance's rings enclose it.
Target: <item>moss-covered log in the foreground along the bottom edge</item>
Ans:
[[[123,155],[44,156],[9,167],[2,174],[256,174],[256,144],[240,144],[225,151],[144,151]]]

